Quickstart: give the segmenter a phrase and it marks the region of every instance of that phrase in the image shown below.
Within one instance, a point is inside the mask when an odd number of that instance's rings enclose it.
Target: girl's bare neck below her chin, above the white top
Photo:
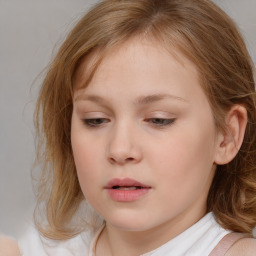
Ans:
[[[106,223],[97,243],[96,255],[138,256],[145,254],[178,236],[203,216],[204,213],[186,223],[184,218],[175,219],[146,231],[125,231]]]

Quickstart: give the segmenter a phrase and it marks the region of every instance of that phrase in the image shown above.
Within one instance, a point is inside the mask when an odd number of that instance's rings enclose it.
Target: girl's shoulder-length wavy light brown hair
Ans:
[[[67,36],[49,66],[35,110],[37,161],[42,164],[35,214],[39,230],[52,239],[81,232],[70,226],[85,200],[70,141],[76,70],[86,57],[96,56],[87,74],[89,83],[104,53],[136,36],[157,40],[170,50],[175,46],[196,65],[217,128],[226,129],[225,115],[234,104],[247,109],[244,142],[232,162],[217,166],[207,211],[213,211],[224,228],[252,232],[256,224],[254,65],[234,22],[209,0],[105,0]],[[47,217],[44,224],[38,218],[42,212]]]

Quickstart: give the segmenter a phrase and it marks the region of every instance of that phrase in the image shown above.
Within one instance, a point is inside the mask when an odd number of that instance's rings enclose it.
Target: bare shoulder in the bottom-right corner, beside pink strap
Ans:
[[[256,239],[243,238],[236,242],[225,256],[256,256]]]

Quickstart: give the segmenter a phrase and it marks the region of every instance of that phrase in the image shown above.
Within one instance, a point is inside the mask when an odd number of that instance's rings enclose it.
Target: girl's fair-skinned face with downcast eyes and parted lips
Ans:
[[[112,50],[89,86],[75,91],[78,178],[114,229],[179,233],[206,212],[218,134],[195,66],[174,51],[176,57],[133,39]]]

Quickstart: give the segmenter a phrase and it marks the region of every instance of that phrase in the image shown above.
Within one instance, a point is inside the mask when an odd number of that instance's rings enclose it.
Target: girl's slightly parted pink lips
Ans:
[[[117,187],[121,187],[117,189]],[[134,189],[136,187],[137,189]],[[110,198],[117,202],[132,202],[140,199],[142,196],[147,194],[151,187],[138,182],[134,179],[123,178],[123,179],[112,179],[104,187],[107,190]]]

